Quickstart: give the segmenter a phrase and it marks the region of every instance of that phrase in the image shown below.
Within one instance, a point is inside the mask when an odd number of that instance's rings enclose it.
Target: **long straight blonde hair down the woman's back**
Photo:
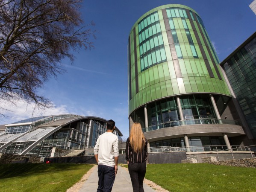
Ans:
[[[141,129],[141,124],[138,122],[133,123],[131,131],[130,131],[130,143],[132,149],[138,153],[142,151],[143,146],[146,143],[146,139]]]

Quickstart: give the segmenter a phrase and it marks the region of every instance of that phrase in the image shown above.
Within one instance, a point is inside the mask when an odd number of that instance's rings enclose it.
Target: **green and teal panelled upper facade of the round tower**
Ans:
[[[129,35],[129,115],[152,101],[193,93],[230,96],[203,21],[165,5],[144,14]]]

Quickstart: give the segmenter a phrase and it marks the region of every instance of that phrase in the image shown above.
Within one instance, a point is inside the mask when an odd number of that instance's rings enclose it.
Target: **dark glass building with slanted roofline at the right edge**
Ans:
[[[230,83],[235,109],[246,134],[256,143],[256,32],[220,65]]]

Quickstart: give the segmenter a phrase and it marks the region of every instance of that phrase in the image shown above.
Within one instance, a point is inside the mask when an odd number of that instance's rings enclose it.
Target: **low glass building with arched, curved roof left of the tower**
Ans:
[[[83,149],[95,145],[106,132],[106,119],[63,114],[40,116],[5,125],[0,132],[0,153],[50,157],[56,148]],[[122,140],[116,127],[114,134]]]

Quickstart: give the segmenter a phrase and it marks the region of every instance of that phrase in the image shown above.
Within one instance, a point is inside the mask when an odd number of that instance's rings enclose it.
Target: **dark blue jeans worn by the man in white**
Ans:
[[[115,181],[115,167],[98,165],[98,176],[97,192],[111,192]]]

